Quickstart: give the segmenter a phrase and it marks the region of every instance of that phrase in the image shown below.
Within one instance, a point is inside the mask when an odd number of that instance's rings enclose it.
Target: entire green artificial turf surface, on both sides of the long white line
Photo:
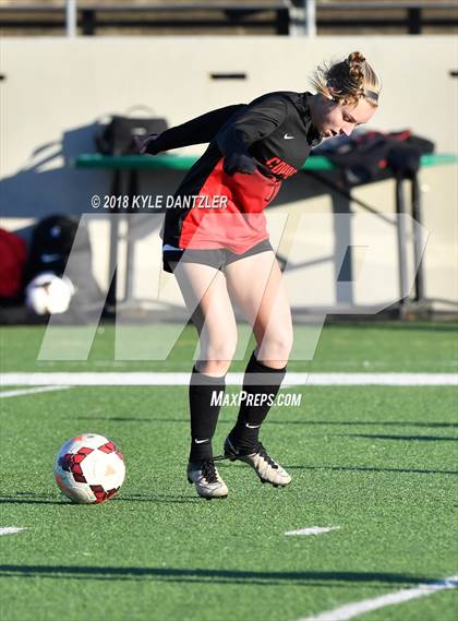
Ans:
[[[328,326],[315,360],[291,367],[451,372],[453,327]],[[41,337],[40,327],[4,329],[2,370],[192,366],[190,329],[167,363],[116,365],[108,327],[87,362],[37,362]],[[229,497],[212,502],[185,479],[185,386],[71,387],[0,399],[0,527],[26,528],[0,537],[2,621],[294,621],[457,574],[456,389],[282,390],[302,403],[274,407],[262,439],[291,486],[262,486],[246,465],[221,462]],[[236,417],[234,407],[222,409],[216,452]],[[60,444],[84,431],[114,440],[125,456],[124,486],[106,504],[72,505],[53,482]],[[308,526],[339,529],[285,535]],[[363,619],[453,621],[456,611],[457,590],[449,590]]]

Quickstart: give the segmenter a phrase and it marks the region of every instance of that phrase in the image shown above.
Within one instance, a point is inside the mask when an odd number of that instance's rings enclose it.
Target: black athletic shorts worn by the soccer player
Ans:
[[[265,252],[266,250],[274,250],[272,248],[270,241],[268,239],[263,239],[256,246],[249,248],[241,254],[236,254],[227,248],[218,248],[210,250],[195,250],[188,249],[184,250],[164,250],[162,251],[162,266],[165,272],[173,273],[177,263],[182,260],[185,263],[202,263],[204,265],[209,265],[216,270],[224,272],[225,266],[245,256],[251,256],[252,254],[258,254],[260,252]]]

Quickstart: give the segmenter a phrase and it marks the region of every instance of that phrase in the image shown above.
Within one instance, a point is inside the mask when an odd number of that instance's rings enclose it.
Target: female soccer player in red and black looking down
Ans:
[[[316,94],[274,92],[249,105],[213,110],[149,135],[141,146],[141,153],[155,155],[209,143],[178,188],[162,229],[164,268],[174,274],[198,333],[189,390],[188,480],[206,499],[228,493],[215,467],[212,438],[237,344],[232,300],[252,325],[256,348],[225,455],[249,464],[262,482],[291,481],[258,440],[292,347],[290,304],[263,210],[282,180],[302,168],[313,146],[350,135],[372,118],[381,91],[375,71],[358,51],[318,67],[313,86]]]

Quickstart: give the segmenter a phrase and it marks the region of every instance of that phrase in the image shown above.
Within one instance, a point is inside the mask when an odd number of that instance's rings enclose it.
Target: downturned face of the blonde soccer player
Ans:
[[[312,122],[323,138],[350,135],[354,128],[370,121],[376,110],[366,99],[342,105],[322,95],[314,97],[316,99],[311,106]]]

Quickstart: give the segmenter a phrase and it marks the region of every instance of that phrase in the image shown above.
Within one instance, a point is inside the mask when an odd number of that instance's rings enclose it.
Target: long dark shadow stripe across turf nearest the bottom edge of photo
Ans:
[[[338,586],[333,583],[378,583],[410,585],[434,582],[435,578],[390,573],[364,572],[254,572],[236,570],[202,570],[171,568],[105,568],[80,565],[0,565],[0,577],[50,577],[79,580],[138,580],[153,578],[169,582],[210,582],[226,584],[272,585],[285,582]]]

